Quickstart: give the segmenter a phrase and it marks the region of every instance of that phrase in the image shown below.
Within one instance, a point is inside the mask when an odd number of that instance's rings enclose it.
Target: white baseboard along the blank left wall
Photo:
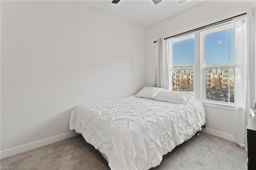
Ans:
[[[67,138],[70,138],[70,137],[73,137],[73,136],[76,136],[76,134],[74,132],[67,132],[67,133],[60,134],[60,135],[57,135],[57,136],[53,136],[53,137],[50,137],[50,138],[38,140],[36,142],[31,142],[31,143],[24,144],[24,145],[21,145],[21,146],[17,146],[17,147],[14,147],[14,148],[6,149],[6,150],[3,150],[3,151],[0,152],[0,158],[2,159],[2,158],[6,158],[8,156],[12,156],[12,155],[15,155],[15,154],[26,152],[28,150],[32,150],[34,148],[39,148],[41,146],[45,146],[47,144],[58,142],[60,140],[64,140],[64,139],[67,139]]]

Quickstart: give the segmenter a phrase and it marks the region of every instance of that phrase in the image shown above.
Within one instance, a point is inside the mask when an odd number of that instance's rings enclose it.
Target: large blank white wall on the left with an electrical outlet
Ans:
[[[72,136],[76,105],[134,95],[144,75],[145,28],[82,1],[1,1],[1,156]]]

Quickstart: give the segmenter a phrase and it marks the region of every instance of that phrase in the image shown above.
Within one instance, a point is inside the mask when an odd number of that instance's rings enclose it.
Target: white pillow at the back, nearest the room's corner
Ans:
[[[144,87],[141,89],[135,97],[142,97],[142,98],[148,98],[148,99],[154,99],[162,90],[163,88],[159,87]]]

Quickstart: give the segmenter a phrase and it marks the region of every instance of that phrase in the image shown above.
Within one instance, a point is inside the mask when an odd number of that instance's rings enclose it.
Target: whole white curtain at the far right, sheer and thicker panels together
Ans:
[[[249,109],[256,102],[256,39],[255,12],[250,8],[245,16],[234,19],[235,30],[235,138],[247,150],[246,127]],[[253,16],[254,13],[254,16]]]

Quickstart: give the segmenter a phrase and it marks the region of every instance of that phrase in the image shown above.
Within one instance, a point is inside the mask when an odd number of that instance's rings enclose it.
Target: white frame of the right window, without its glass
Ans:
[[[218,26],[215,28],[208,28],[200,32],[200,51],[201,51],[201,79],[202,79],[202,93],[201,93],[201,101],[207,102],[207,103],[216,103],[216,104],[224,104],[224,105],[231,105],[234,106],[234,103],[230,103],[230,68],[234,69],[234,64],[230,64],[230,45],[228,44],[228,65],[206,65],[206,57],[205,57],[205,36],[234,29],[234,24],[225,24],[223,26]],[[230,34],[228,32],[228,43],[230,43]],[[215,69],[215,73],[217,74],[218,69],[228,69],[228,102],[224,101],[215,101],[215,100],[209,100],[206,99],[206,69]],[[233,71],[234,72],[234,71]],[[213,73],[213,71],[212,71]],[[234,74],[234,73],[233,73]],[[223,79],[223,77],[222,77]],[[233,81],[234,83],[234,81]]]

